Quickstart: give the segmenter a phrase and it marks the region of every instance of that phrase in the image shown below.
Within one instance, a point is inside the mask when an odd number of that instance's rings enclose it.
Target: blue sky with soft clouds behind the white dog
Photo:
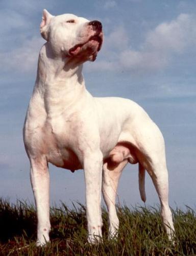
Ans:
[[[169,203],[196,208],[196,1],[1,0],[0,2],[0,196],[33,202],[22,127],[36,79],[42,10],[100,20],[104,44],[84,64],[93,96],[136,101],[165,138]],[[85,203],[84,173],[50,165],[51,204]],[[146,205],[159,203],[146,175]],[[118,203],[143,205],[138,166],[128,165]]]

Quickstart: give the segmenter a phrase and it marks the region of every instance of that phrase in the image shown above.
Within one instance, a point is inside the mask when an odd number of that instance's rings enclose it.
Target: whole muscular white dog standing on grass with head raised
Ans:
[[[37,208],[37,244],[50,240],[48,162],[73,172],[84,169],[90,243],[102,236],[101,191],[109,212],[109,236],[117,235],[118,180],[128,162],[138,162],[141,198],[145,201],[147,170],[171,238],[174,226],[161,132],[135,102],[93,98],[85,88],[82,64],[94,61],[101,49],[101,22],[72,14],[53,16],[43,10],[40,31],[46,43],[39,54],[37,79],[23,129]]]

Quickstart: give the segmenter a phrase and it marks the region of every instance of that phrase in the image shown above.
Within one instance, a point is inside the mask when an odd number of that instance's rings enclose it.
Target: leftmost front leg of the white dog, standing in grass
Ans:
[[[31,160],[31,184],[37,210],[37,245],[50,241],[49,172],[45,157]]]

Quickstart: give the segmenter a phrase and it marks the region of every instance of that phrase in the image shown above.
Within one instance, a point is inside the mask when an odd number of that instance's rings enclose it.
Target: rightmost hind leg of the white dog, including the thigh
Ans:
[[[171,240],[174,234],[174,225],[168,204],[168,172],[165,158],[165,144],[162,133],[155,123],[145,120],[145,125],[135,130],[136,156],[141,166],[148,171],[161,204],[161,217],[168,238]],[[141,177],[144,180],[144,176]],[[141,186],[143,189],[143,185]],[[144,197],[145,199],[145,197]]]

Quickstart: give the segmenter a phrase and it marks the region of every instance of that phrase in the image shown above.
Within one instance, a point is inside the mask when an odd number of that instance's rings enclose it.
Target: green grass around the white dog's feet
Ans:
[[[33,205],[10,204],[0,198],[0,255],[196,255],[196,215],[173,211],[175,245],[167,240],[159,208],[117,207],[120,221],[117,241],[107,240],[108,216],[103,209],[103,243],[86,242],[85,207],[68,208],[64,203],[51,208],[51,243],[36,247],[36,212]]]

